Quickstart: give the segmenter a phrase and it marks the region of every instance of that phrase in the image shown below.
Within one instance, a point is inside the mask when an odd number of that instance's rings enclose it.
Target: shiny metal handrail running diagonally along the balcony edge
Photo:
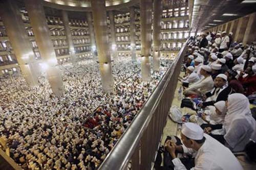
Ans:
[[[155,110],[161,100],[161,96],[163,95],[170,78],[172,78],[176,64],[179,62],[180,58],[183,57],[182,55],[187,42],[188,40],[182,46],[178,57],[175,59],[172,66],[170,66],[165,72],[159,84],[150,95],[150,98],[148,98],[147,102],[137,113],[137,116],[133,119],[133,122],[129,128],[126,129],[124,134],[115,144],[110,154],[99,166],[99,169],[123,169],[131,160],[135,149],[138,147],[139,142],[143,136],[143,132],[146,130],[148,124],[150,123],[151,118],[153,117],[153,114],[155,113]]]

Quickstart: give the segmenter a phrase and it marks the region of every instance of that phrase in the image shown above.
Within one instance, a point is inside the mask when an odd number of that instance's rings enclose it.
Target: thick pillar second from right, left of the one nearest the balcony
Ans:
[[[151,44],[152,44],[152,0],[140,0],[140,39],[141,39],[141,76],[151,81]]]

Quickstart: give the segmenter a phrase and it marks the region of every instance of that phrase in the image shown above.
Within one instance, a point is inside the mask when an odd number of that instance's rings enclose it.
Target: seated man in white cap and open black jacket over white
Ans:
[[[214,88],[204,94],[205,102],[199,104],[199,107],[214,106],[216,102],[226,101],[229,94],[233,93],[230,86],[227,86],[227,76],[219,74],[214,80]]]

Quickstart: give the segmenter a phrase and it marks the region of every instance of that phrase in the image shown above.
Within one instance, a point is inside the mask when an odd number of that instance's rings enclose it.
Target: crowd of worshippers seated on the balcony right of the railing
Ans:
[[[188,167],[177,158],[176,151],[196,155],[195,169],[242,169],[231,152],[249,151],[251,144],[255,148],[256,122],[250,103],[255,104],[256,96],[256,42],[234,42],[232,35],[219,31],[189,38],[185,75],[179,81],[182,102],[191,101],[195,105],[186,103],[186,107],[197,113],[187,121],[193,123],[183,124],[185,146],[165,143],[177,169]],[[256,160],[253,154],[251,158]]]

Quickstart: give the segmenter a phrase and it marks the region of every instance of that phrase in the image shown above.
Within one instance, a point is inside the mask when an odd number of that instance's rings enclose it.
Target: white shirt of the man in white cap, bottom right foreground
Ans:
[[[205,142],[198,151],[181,145],[184,153],[195,156],[195,167],[191,170],[242,170],[243,167],[232,152],[211,136],[204,134]],[[179,158],[173,159],[175,170],[187,169]]]

